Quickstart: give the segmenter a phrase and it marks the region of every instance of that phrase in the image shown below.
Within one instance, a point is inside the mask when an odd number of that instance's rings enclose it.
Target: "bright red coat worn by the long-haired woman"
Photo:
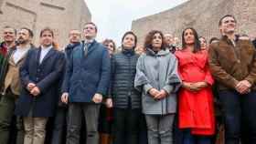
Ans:
[[[205,81],[214,83],[208,69],[208,52],[205,50],[192,53],[188,49],[176,51],[178,72],[182,81]],[[180,129],[191,129],[192,134],[212,135],[215,132],[213,95],[211,87],[198,92],[181,88],[178,96],[178,118]]]

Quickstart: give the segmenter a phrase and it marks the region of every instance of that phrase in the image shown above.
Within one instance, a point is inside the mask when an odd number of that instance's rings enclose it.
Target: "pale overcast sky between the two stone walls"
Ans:
[[[131,30],[132,21],[153,15],[187,0],[85,0],[92,22],[96,23],[99,32],[97,39],[112,38],[120,46],[123,34]]]

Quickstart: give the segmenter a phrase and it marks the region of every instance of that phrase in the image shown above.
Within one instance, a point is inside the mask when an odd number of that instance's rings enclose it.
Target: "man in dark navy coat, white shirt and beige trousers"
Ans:
[[[29,50],[20,67],[23,88],[16,103],[16,115],[24,119],[25,144],[44,143],[48,118],[54,115],[56,108],[65,57],[52,46],[53,36],[50,28],[43,29],[41,46]]]

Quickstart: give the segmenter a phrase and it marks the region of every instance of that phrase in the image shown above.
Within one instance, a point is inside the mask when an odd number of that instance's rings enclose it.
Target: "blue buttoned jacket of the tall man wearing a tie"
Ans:
[[[84,44],[76,46],[66,68],[62,92],[69,93],[69,102],[92,102],[95,93],[106,95],[110,83],[111,61],[105,46],[92,42],[87,56]]]

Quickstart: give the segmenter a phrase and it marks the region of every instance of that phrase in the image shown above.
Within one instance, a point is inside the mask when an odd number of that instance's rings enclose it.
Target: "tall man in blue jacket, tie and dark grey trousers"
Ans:
[[[69,59],[61,101],[69,102],[67,144],[79,144],[81,116],[86,124],[86,143],[98,144],[98,117],[102,97],[110,83],[108,50],[95,40],[97,26],[84,25],[84,43],[76,46]]]

